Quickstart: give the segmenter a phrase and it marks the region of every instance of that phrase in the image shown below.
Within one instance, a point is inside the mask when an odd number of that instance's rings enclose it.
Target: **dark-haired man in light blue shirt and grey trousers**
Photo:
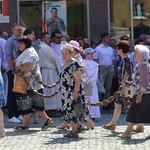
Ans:
[[[104,81],[106,93],[103,99],[107,99],[110,96],[110,89],[114,74],[114,52],[113,49],[109,46],[109,33],[103,33],[101,35],[101,41],[102,43],[95,48],[96,52],[93,58],[99,64],[99,75],[102,76]]]

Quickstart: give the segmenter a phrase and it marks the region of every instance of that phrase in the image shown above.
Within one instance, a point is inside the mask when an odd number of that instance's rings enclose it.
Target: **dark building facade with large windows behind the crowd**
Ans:
[[[49,8],[44,8],[45,3]],[[42,32],[42,19],[46,20],[51,13],[51,5],[60,10],[57,3],[65,3],[58,15],[65,20],[65,33],[71,39],[81,36],[92,40],[103,32],[119,38],[130,36],[132,28],[134,38],[141,33],[150,34],[150,0],[0,0],[0,31],[11,34],[11,24],[19,23],[23,28],[34,28],[38,36]]]

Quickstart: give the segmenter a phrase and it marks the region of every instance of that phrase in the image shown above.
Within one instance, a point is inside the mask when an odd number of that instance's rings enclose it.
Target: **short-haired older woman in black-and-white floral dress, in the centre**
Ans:
[[[77,123],[83,119],[91,122],[88,107],[85,103],[84,90],[82,88],[82,68],[72,60],[73,49],[69,44],[62,47],[62,57],[65,62],[63,70],[60,74],[62,84],[62,119],[71,123],[71,132],[64,137],[78,137]],[[73,103],[80,98],[84,107],[85,114],[77,116],[74,111]]]

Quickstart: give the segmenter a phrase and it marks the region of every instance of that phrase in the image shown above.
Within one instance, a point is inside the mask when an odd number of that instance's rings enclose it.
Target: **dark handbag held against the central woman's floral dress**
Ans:
[[[80,117],[80,116],[83,116],[85,114],[83,103],[82,103],[80,97],[78,97],[77,100],[73,101],[73,108],[74,108],[76,117]]]

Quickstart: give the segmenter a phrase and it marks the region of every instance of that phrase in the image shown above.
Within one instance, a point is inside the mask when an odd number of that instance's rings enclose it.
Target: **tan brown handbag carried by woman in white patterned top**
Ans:
[[[12,91],[27,94],[28,82],[29,80],[27,81],[24,77],[17,75],[15,78],[14,87]]]

